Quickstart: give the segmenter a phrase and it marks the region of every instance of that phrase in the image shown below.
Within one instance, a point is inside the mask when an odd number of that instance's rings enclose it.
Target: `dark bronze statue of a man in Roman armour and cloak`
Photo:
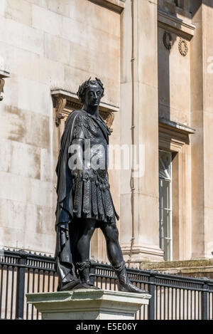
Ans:
[[[107,256],[119,280],[120,291],[143,292],[126,273],[119,245],[116,214],[107,173],[109,128],[99,115],[104,86],[98,78],[79,88],[82,109],[65,122],[61,138],[56,209],[56,270],[59,290],[95,288],[89,279],[89,246],[94,229],[107,242]]]

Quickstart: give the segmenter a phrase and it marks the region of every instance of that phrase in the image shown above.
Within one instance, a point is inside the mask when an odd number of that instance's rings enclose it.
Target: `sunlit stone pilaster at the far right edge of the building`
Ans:
[[[192,138],[192,259],[208,259],[213,250],[213,9],[211,1],[193,2],[196,34],[192,39],[191,119],[197,131]]]

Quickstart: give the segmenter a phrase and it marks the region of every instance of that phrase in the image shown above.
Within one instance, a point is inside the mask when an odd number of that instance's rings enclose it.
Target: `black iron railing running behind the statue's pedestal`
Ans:
[[[128,268],[128,274],[152,296],[136,319],[213,320],[213,281],[133,268]],[[92,262],[91,277],[99,288],[117,290],[108,264]],[[53,292],[57,287],[53,257],[4,251],[0,259],[0,319],[40,319],[40,313],[26,304],[26,293]]]

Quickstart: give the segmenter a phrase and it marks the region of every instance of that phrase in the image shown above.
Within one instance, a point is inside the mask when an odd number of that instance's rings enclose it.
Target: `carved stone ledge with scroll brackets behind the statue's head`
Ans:
[[[77,98],[77,94],[71,93],[67,90],[54,88],[51,90],[53,98],[53,107],[55,108],[55,125],[58,127],[61,120],[66,120],[67,116],[73,110],[81,109],[82,103]],[[114,121],[114,113],[119,111],[119,107],[109,105],[108,103],[100,103],[99,113],[106,122],[109,130],[113,132],[112,123]]]

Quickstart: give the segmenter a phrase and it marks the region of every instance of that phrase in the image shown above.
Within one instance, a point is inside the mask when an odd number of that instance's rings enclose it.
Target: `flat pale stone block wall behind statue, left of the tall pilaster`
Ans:
[[[1,0],[0,16],[1,70],[10,72],[0,105],[0,246],[53,254],[61,130],[50,89],[76,93],[97,76],[104,102],[119,106],[120,14],[87,0]],[[116,115],[111,142],[118,123]],[[113,195],[119,212],[119,182]]]

